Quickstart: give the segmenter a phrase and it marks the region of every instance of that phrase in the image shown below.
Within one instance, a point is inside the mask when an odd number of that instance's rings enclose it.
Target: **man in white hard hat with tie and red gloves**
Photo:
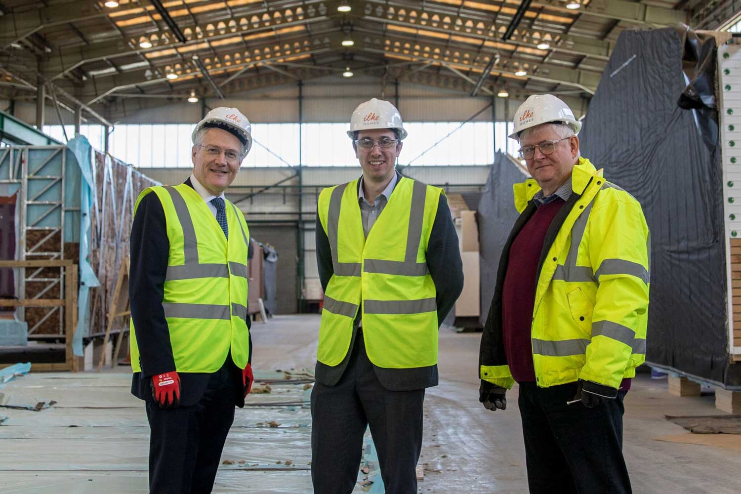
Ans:
[[[210,493],[252,386],[245,217],[225,198],[250,122],[211,110],[192,134],[193,173],[149,187],[131,228],[131,392],[150,424],[150,493]]]

